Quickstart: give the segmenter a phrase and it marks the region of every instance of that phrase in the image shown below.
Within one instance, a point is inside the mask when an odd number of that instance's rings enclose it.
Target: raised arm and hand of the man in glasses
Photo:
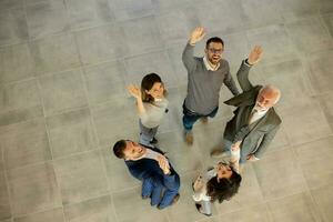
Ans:
[[[202,40],[204,36],[205,36],[205,31],[202,27],[196,27],[190,34],[189,42],[182,54],[183,63],[189,72],[195,69],[195,60],[193,57],[194,46],[196,42]]]

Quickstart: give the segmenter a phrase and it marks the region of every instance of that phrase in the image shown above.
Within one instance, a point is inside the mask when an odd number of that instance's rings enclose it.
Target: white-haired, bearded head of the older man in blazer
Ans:
[[[279,102],[280,98],[281,91],[278,88],[268,84],[259,91],[254,109],[258,111],[269,110]]]

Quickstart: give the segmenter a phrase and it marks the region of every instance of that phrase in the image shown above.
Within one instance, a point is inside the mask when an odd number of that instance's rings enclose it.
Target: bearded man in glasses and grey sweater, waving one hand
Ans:
[[[182,60],[188,70],[188,94],[183,103],[183,125],[188,144],[193,143],[192,128],[196,120],[208,122],[208,117],[215,117],[219,109],[220,89],[224,84],[232,94],[239,90],[230,74],[229,63],[222,59],[224,43],[218,37],[210,38],[205,46],[205,56],[193,56],[194,46],[202,40],[205,31],[195,28],[183,51]]]

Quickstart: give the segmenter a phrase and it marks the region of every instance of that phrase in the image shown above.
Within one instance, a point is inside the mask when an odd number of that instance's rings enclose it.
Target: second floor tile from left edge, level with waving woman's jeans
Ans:
[[[98,148],[88,109],[49,117],[47,127],[53,159]]]

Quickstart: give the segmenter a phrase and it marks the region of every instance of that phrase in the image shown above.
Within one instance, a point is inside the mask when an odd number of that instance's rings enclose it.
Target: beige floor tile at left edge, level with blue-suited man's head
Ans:
[[[1,128],[0,138],[8,170],[52,159],[43,119]]]

